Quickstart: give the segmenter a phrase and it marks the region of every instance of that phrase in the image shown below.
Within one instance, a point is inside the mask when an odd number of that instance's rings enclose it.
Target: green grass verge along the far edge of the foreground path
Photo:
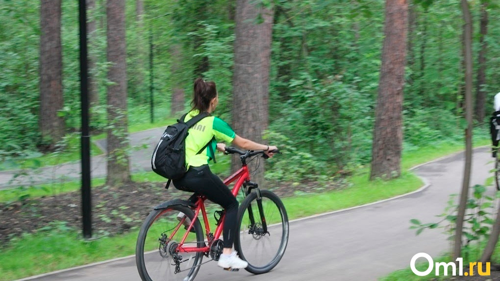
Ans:
[[[146,179],[150,176],[142,174],[137,178]],[[368,183],[366,178],[364,175],[354,177],[352,184],[356,185],[356,188],[283,198],[289,219],[352,207],[406,193],[421,186],[421,182],[408,172],[400,179],[391,181],[389,188],[387,182]],[[318,205],[317,202],[324,204]],[[133,255],[137,233],[138,230],[134,229],[125,235],[85,242],[75,230],[68,231],[64,229],[63,224],[54,224],[48,232],[25,235],[2,250],[0,281]]]

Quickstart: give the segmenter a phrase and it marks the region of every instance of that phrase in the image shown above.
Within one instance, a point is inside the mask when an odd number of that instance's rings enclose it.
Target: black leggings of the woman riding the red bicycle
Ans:
[[[194,192],[189,201],[195,203],[196,194],[206,196],[208,200],[216,203],[225,210],[224,218],[224,248],[232,248],[234,235],[236,235],[236,215],[238,212],[238,202],[232,196],[229,188],[224,185],[219,177],[212,174],[208,165],[201,167],[190,167],[184,177],[173,181],[176,189]]]

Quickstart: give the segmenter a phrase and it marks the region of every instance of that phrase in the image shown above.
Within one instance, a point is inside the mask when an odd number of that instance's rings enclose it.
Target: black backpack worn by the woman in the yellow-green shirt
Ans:
[[[184,122],[186,115],[187,113],[182,115],[177,120],[177,123],[166,127],[153,151],[151,168],[156,174],[168,179],[165,188],[168,188],[171,180],[180,179],[185,174],[185,138],[188,134],[187,130],[201,119],[207,117],[208,113],[199,113],[189,121]],[[201,148],[198,153],[202,152],[209,143]],[[215,155],[213,148],[211,146],[209,148],[212,155]]]

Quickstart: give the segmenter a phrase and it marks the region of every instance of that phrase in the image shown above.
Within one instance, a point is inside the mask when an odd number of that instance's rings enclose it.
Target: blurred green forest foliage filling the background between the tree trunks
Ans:
[[[269,129],[287,140],[298,161],[329,167],[324,176],[369,163],[383,39],[383,2],[305,0],[257,1],[273,7]],[[96,60],[91,75],[99,102],[91,109],[90,126],[102,132],[106,116],[105,1],[96,1],[88,15],[96,21],[89,34],[89,56]],[[490,3],[486,110],[500,80],[497,5]],[[154,84],[155,121],[168,120],[173,87],[190,101],[196,76],[214,80],[220,103],[216,115],[231,116],[234,1],[144,0],[137,20],[135,1],[126,1],[127,90],[129,125],[149,122],[150,78]],[[472,11],[478,15],[478,9]],[[450,0],[417,0],[410,8],[404,87],[404,148],[461,140],[463,69],[461,13]],[[39,3],[1,0],[0,19],[0,155],[39,153]],[[258,22],[258,19],[255,19]],[[64,107],[59,112],[68,131],[80,126],[77,3],[62,2]],[[478,28],[474,28],[476,34]],[[477,47],[477,36],[475,46]],[[150,46],[151,44],[151,46]],[[150,47],[152,47],[150,49]],[[179,66],[172,69],[172,48]],[[149,52],[152,69],[149,66]],[[476,55],[474,55],[476,58]],[[477,64],[474,64],[477,65]],[[477,66],[476,66],[477,67]],[[252,93],[248,93],[251,95]],[[487,114],[489,115],[489,114]],[[164,124],[160,124],[164,125]],[[475,133],[486,135],[487,130]],[[276,145],[281,145],[277,140]],[[311,160],[313,158],[313,160]],[[295,161],[295,162],[297,162]],[[0,164],[8,166],[7,164]],[[283,167],[284,168],[284,167]]]

